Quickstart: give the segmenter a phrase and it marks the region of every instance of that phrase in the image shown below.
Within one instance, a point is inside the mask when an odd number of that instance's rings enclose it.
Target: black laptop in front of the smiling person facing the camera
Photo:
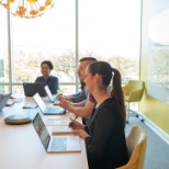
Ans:
[[[44,82],[23,82],[24,94],[26,97],[33,97],[38,92],[41,97],[46,97],[45,86],[46,83]]]

